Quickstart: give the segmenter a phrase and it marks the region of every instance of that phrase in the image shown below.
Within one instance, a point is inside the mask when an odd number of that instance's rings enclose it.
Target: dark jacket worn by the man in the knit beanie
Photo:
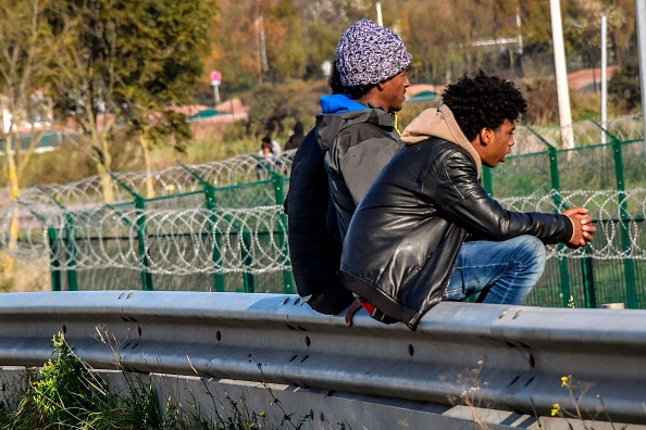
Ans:
[[[356,201],[363,198],[401,143],[393,117],[383,111],[369,110],[346,96],[324,96],[321,100],[325,114],[316,118],[316,126],[296,151],[285,210],[298,294],[307,298],[314,311],[337,314],[353,300],[338,279],[340,237],[355,212]],[[334,159],[333,182],[328,182],[324,162],[331,148],[338,155]],[[376,156],[367,156],[371,153]],[[346,160],[348,154],[356,155],[361,165],[352,166],[352,161]],[[350,181],[349,187],[345,179]],[[330,184],[334,185],[332,199]],[[348,220],[337,222],[333,201],[344,202],[339,207]]]

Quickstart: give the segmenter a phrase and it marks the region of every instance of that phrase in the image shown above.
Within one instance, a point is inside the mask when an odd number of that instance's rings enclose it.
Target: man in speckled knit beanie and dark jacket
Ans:
[[[321,98],[316,126],[295,154],[289,252],[298,293],[318,312],[337,314],[353,301],[338,282],[340,244],[355,208],[402,146],[394,114],[411,59],[388,28],[370,20],[348,28],[337,46],[334,93]]]

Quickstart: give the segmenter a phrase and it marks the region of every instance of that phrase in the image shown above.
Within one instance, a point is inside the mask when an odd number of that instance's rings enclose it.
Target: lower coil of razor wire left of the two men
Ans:
[[[13,244],[12,216],[21,226]],[[41,268],[49,255],[50,268],[61,270],[276,271],[289,267],[286,229],[281,205],[212,211],[102,206],[74,212],[14,205],[0,213],[0,245],[7,252]]]

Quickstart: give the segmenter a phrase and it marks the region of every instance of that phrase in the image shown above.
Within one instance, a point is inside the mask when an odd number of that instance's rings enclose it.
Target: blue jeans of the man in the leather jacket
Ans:
[[[533,236],[464,242],[443,300],[522,304],[545,269],[545,245]]]

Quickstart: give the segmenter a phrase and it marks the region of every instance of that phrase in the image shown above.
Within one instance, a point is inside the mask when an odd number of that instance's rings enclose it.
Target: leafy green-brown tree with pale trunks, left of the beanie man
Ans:
[[[58,112],[90,137],[103,200],[111,203],[111,143],[120,124],[129,126],[146,157],[161,136],[173,135],[179,143],[188,137],[186,117],[164,108],[187,101],[202,74],[207,1],[57,4],[52,26],[73,29],[72,43],[54,62]],[[152,195],[151,180],[148,189]]]

